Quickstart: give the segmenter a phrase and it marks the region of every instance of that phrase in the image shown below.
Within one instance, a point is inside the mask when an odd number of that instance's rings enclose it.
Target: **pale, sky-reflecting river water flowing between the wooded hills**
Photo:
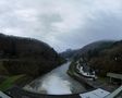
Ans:
[[[85,87],[66,74],[71,62],[52,70],[46,75],[33,81],[24,89],[47,94],[47,95],[68,95],[86,91]]]

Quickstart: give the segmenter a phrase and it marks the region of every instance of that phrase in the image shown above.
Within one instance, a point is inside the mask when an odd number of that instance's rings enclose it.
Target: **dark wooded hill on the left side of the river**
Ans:
[[[0,34],[0,60],[9,74],[41,75],[64,59],[47,44],[32,38]]]

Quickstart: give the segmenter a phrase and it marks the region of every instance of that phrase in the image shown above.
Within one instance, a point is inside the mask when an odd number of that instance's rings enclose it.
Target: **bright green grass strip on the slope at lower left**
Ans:
[[[24,76],[25,75],[15,75],[15,76],[8,77],[5,81],[3,81],[0,84],[0,90],[5,91],[8,88],[10,88],[12,85],[14,85],[17,79],[20,79]]]

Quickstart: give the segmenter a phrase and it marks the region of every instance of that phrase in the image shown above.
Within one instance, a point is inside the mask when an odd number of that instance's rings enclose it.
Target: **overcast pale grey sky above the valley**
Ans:
[[[122,0],[0,0],[0,33],[42,40],[58,52],[122,39]]]

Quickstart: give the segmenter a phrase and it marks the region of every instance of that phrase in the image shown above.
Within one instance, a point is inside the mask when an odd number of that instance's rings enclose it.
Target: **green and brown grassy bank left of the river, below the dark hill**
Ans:
[[[34,78],[24,74],[20,75],[1,75],[0,76],[0,90],[5,91],[13,86],[23,88],[27,83],[30,83]]]

